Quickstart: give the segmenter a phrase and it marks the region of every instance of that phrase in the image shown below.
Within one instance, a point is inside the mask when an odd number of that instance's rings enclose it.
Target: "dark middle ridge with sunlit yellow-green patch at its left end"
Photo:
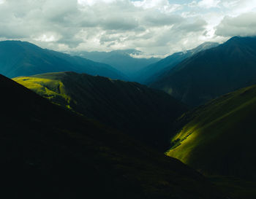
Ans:
[[[164,152],[172,122],[187,111],[167,93],[136,82],[74,72],[39,74],[14,80],[74,112],[83,114]]]

